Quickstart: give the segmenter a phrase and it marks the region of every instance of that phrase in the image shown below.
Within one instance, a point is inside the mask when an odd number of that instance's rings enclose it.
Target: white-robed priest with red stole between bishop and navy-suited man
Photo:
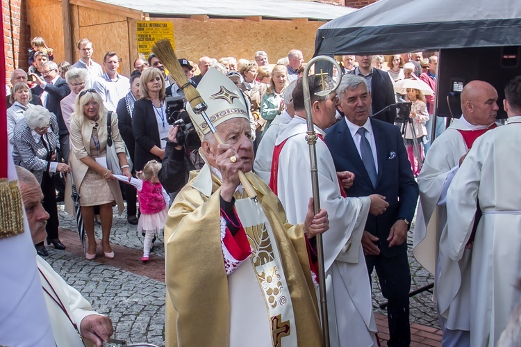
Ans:
[[[369,277],[361,238],[367,213],[380,214],[388,207],[380,195],[344,197],[343,184],[352,184],[351,172],[337,172],[324,142],[324,129],[336,122],[335,92],[329,76],[324,80],[309,76],[313,123],[317,132],[316,151],[320,206],[329,213],[330,230],[324,234],[324,267],[331,346],[377,346],[377,325],[372,311]],[[341,86],[340,86],[341,88]],[[309,146],[306,142],[306,112],[302,79],[293,90],[295,117],[281,124],[272,161],[270,186],[279,196],[288,221],[301,223],[305,218],[306,196],[312,194]],[[301,211],[304,209],[304,211]]]

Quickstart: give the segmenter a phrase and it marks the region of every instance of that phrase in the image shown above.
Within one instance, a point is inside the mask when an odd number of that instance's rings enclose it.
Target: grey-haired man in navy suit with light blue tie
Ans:
[[[370,118],[371,95],[363,76],[345,74],[337,90],[345,119],[326,131],[336,171],[354,173],[348,196],[380,194],[389,207],[367,217],[362,246],[371,275],[376,268],[388,299],[388,346],[409,346],[408,292],[411,289],[406,236],[416,208],[418,186],[395,125]]]

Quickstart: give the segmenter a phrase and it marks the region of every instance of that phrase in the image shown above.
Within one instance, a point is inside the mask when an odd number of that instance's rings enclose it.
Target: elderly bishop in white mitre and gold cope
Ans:
[[[251,172],[251,127],[240,90],[213,68],[197,90],[224,144],[187,104],[206,164],[190,173],[165,226],[166,344],[322,346],[306,238],[329,228],[327,213],[313,216],[310,202],[304,223],[290,225],[279,200]]]

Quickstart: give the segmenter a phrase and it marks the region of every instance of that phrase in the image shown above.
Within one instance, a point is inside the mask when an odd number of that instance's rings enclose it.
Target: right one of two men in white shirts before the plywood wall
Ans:
[[[113,51],[108,51],[103,58],[105,73],[94,81],[93,88],[101,95],[103,104],[108,111],[116,111],[119,99],[129,92],[130,81],[117,73],[119,58]]]

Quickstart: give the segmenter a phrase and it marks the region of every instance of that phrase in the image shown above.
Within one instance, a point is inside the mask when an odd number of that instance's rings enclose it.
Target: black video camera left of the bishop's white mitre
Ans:
[[[188,150],[198,150],[201,147],[201,140],[195,131],[190,115],[185,110],[186,99],[183,97],[167,97],[167,122],[169,125],[178,126],[176,140],[179,145],[185,146]]]

